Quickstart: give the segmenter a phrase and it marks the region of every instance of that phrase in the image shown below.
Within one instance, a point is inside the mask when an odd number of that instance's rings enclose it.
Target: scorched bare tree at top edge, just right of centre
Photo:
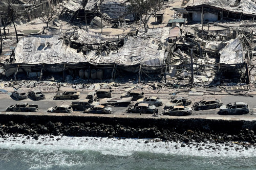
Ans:
[[[129,12],[138,14],[144,28],[148,28],[147,22],[155,14],[158,0],[131,0],[130,3]]]

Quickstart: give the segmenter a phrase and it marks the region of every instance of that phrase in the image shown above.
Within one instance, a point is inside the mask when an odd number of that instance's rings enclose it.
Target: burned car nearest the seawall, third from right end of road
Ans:
[[[174,106],[173,108],[168,108],[163,111],[163,115],[170,115],[170,116],[186,116],[190,115],[191,112],[190,107],[186,106]]]

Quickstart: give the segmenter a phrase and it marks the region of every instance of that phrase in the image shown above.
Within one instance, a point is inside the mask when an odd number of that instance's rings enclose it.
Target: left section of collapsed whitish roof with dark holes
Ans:
[[[82,53],[69,46],[57,35],[23,37],[15,48],[14,63],[62,63],[84,62]]]

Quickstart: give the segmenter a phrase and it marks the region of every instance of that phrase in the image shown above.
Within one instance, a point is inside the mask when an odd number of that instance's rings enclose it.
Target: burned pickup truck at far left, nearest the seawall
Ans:
[[[28,103],[11,105],[6,109],[7,112],[38,112],[38,105],[29,105]]]

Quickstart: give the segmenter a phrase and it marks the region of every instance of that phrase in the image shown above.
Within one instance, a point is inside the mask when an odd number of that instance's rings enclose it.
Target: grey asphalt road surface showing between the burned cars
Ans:
[[[80,99],[77,100],[53,100],[54,95],[56,93],[46,93],[45,100],[41,101],[33,101],[30,97],[28,99],[22,100],[22,101],[16,101],[14,98],[12,98],[11,93],[2,93],[0,94],[1,97],[1,103],[0,103],[0,111],[5,111],[6,108],[10,105],[14,105],[17,103],[29,103],[29,104],[34,104],[38,105],[38,108],[40,112],[47,112],[47,109],[50,107],[54,107],[57,105],[71,105],[72,101],[79,101],[81,99],[85,99],[88,93],[81,93],[80,94]],[[113,98],[119,98],[121,93],[113,93]],[[172,99],[172,95],[169,94],[154,94],[152,95],[151,93],[145,93],[145,96],[158,96],[163,100],[163,106],[157,107],[159,110],[159,114],[162,113],[163,108],[165,104]],[[192,107],[193,103],[201,101],[202,99],[220,99],[224,105],[230,103],[230,102],[246,102],[250,106],[250,113],[246,115],[240,115],[240,116],[248,116],[251,115],[252,113],[256,113],[255,109],[256,108],[256,102],[254,98],[251,97],[245,97],[245,96],[232,96],[232,95],[177,95],[177,96],[184,96],[186,98],[189,98],[192,101],[192,104],[188,105],[187,107]],[[132,102],[132,104],[135,104],[136,102]],[[139,113],[125,113],[127,107],[124,106],[110,106],[112,108],[112,114],[115,115],[124,115],[124,114],[139,114]],[[196,111],[193,110],[192,114],[193,115],[219,115],[218,114],[219,109],[209,109],[209,110],[200,110]],[[81,111],[74,111],[74,113],[79,113]]]

